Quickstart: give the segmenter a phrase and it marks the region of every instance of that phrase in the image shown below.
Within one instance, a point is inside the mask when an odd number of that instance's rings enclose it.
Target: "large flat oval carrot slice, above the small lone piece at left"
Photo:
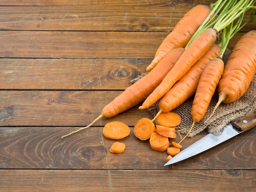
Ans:
[[[122,122],[113,121],[103,127],[102,133],[109,139],[122,139],[130,134],[130,127]]]

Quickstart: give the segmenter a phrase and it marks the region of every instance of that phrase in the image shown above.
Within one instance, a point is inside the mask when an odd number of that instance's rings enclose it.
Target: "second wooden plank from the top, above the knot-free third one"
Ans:
[[[191,7],[0,7],[0,29],[171,31],[189,9]],[[248,20],[249,15],[250,11],[244,20]],[[254,28],[255,22],[241,31]]]

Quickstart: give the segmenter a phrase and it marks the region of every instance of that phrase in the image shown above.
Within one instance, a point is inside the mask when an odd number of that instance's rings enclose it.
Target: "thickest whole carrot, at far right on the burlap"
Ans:
[[[238,100],[247,91],[256,74],[256,30],[245,33],[235,45],[218,84],[218,94],[225,94],[223,103]]]

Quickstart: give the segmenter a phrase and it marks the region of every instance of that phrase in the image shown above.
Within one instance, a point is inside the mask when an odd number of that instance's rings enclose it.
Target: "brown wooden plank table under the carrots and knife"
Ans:
[[[61,139],[145,72],[191,7],[211,2],[1,0],[0,191],[255,190],[256,129],[165,167],[166,152],[132,132],[140,118],[153,117],[137,107]],[[255,22],[229,48],[252,29]],[[113,141],[102,135],[111,121],[131,128],[122,154],[111,154]],[[184,148],[206,134],[187,138]]]

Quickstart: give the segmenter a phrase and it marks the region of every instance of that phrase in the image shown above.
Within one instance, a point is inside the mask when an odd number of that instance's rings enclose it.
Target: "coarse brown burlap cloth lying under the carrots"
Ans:
[[[227,49],[223,57],[224,63],[227,62],[227,58],[229,57],[230,53],[231,52],[229,51],[229,49]],[[132,80],[132,82],[134,83],[144,75],[145,74],[141,74],[141,76],[138,76],[138,78]],[[208,110],[204,115],[204,118],[199,123],[195,123],[188,137],[193,137],[205,129],[207,129],[208,132],[219,131],[228,123],[232,123],[238,118],[241,118],[246,114],[254,111],[256,108],[256,75],[254,76],[247,92],[239,100],[230,104],[221,103],[220,106],[216,109],[214,115],[204,124],[204,121],[207,120],[207,118],[211,115],[213,107],[216,105],[217,102],[218,92],[216,90],[213,98],[211,99]],[[176,127],[176,130],[181,134],[186,134],[193,123],[191,117],[192,103],[193,97],[184,102],[179,107],[172,110],[172,112],[175,112],[181,116],[182,121],[180,125]],[[155,116],[155,114],[157,114],[157,112],[159,111],[158,101],[150,106],[148,108],[148,111],[153,114],[153,116]]]

